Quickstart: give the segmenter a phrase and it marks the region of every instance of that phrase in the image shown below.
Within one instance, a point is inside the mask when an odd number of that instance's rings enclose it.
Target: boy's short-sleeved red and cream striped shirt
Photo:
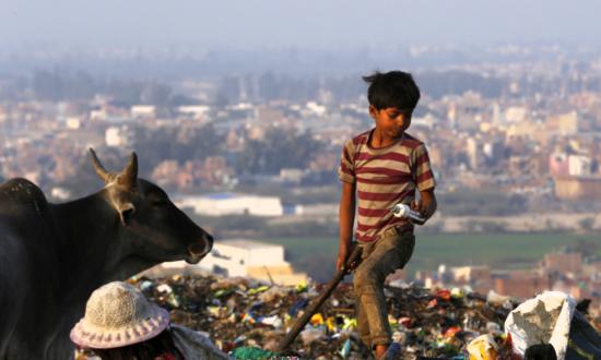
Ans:
[[[435,181],[426,146],[405,133],[397,143],[373,148],[368,145],[374,130],[349,140],[342,149],[338,176],[356,183],[356,239],[370,242],[392,226],[413,230],[413,224],[392,216],[398,203],[411,204],[415,189],[434,189]]]

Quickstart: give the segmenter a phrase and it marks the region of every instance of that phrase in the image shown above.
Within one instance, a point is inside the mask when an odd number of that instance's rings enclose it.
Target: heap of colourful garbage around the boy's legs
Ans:
[[[247,278],[215,276],[132,278],[144,295],[170,311],[172,322],[205,333],[223,351],[237,348],[272,351],[323,285],[282,287]],[[427,290],[402,284],[387,287],[389,321],[403,359],[453,358],[490,334],[509,351],[503,324],[516,305],[462,289]],[[358,340],[354,297],[341,284],[283,355],[308,359],[369,359]]]

